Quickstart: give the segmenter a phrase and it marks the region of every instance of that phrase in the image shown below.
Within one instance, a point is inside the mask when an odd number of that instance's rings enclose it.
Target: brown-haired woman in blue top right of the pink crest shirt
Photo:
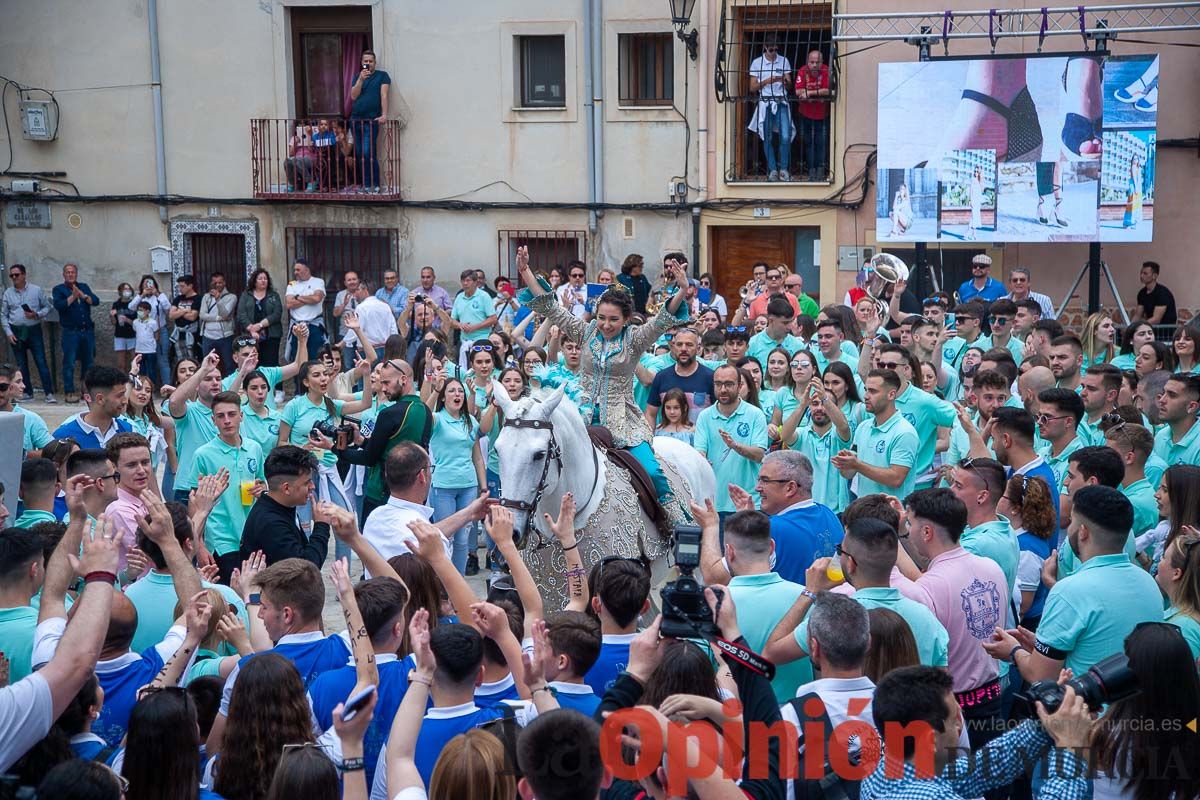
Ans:
[[[1013,475],[996,511],[1008,517],[1021,551],[1013,602],[1021,609],[1021,626],[1036,631],[1050,589],[1042,583],[1042,563],[1050,558],[1058,533],[1050,487],[1040,477]]]

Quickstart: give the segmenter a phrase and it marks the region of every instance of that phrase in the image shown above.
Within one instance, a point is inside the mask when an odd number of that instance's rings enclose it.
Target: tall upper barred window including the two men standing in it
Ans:
[[[835,6],[835,0],[746,0],[722,7],[714,79],[716,97],[726,104],[727,181],[767,181],[772,167],[778,174],[784,164],[792,180],[832,180],[830,131],[838,95]],[[776,49],[768,53],[772,44]],[[776,59],[785,61],[776,66]],[[785,72],[784,80],[755,85]],[[773,124],[780,108],[787,112],[787,125],[780,120],[776,133]],[[751,122],[761,120],[766,125],[751,130]],[[787,134],[792,138],[785,144]]]

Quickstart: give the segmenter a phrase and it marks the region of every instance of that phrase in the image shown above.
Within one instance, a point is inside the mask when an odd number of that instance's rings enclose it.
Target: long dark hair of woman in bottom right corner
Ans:
[[[1186,730],[1200,716],[1200,679],[1188,643],[1169,622],[1142,622],[1126,637],[1124,652],[1140,691],[1100,717],[1088,762],[1135,800],[1200,796],[1200,736]]]

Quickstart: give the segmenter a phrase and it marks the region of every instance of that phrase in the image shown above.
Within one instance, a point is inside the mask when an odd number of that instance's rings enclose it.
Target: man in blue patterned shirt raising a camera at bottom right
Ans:
[[[1066,687],[1062,705],[1054,714],[1038,704],[1040,723],[1027,720],[988,742],[983,752],[958,758],[964,721],[952,690],[949,674],[937,667],[902,667],[880,681],[871,706],[875,727],[881,739],[890,733],[902,747],[893,745],[883,753],[863,781],[864,798],[979,798],[1024,775],[1027,760],[1051,746],[1057,752],[1048,759],[1050,775],[1036,796],[1087,795],[1087,769],[1076,753],[1088,746],[1094,714],[1072,686]],[[932,735],[908,733],[899,738],[898,727],[928,728]]]

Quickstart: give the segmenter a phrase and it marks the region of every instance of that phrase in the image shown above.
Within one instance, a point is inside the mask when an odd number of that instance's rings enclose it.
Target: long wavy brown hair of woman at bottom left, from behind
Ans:
[[[262,800],[283,745],[312,742],[312,711],[300,673],[281,655],[254,656],[234,684],[212,790]]]

